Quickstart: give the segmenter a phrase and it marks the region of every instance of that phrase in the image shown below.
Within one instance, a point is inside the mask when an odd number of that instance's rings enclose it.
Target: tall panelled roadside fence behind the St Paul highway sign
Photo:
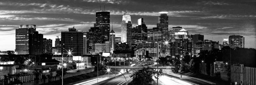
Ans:
[[[207,69],[209,68],[210,72],[207,72]],[[242,85],[256,85],[256,68],[244,67],[243,64],[225,65],[224,72],[214,73],[213,64],[210,64],[210,67],[207,67],[206,63],[201,63],[199,64],[199,72],[204,75],[220,78],[224,81],[231,80],[232,83],[237,82],[237,84]]]

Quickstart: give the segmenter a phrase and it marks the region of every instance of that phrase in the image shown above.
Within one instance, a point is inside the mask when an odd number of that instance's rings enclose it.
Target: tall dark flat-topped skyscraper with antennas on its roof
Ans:
[[[104,41],[109,41],[110,12],[108,11],[96,12],[96,23],[94,24],[94,27],[98,27],[101,30],[102,43]]]

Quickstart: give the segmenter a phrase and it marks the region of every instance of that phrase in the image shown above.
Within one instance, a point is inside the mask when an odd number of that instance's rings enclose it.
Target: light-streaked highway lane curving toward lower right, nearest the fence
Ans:
[[[168,75],[171,75],[171,76],[174,76],[174,77],[177,77],[177,78],[181,78],[181,75],[180,74],[175,74],[173,73],[171,70],[169,69],[163,69],[162,72],[164,74],[168,74]],[[177,79],[176,78],[176,79]],[[175,79],[175,78],[173,78]],[[176,80],[175,79],[175,80]],[[178,79],[180,80],[180,79]],[[203,79],[198,79],[198,78],[194,78],[194,77],[188,77],[188,76],[185,76],[185,75],[182,75],[182,78],[181,80],[183,81],[186,81],[186,82],[189,82],[191,84],[198,84],[198,85],[216,85],[215,83],[213,82],[210,82],[210,81],[207,81],[207,80],[203,80]]]

